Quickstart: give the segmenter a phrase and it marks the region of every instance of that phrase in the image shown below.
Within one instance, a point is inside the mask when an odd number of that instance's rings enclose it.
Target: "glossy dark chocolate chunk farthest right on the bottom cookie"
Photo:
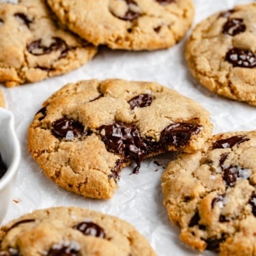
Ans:
[[[73,227],[81,231],[85,236],[95,236],[96,238],[106,238],[104,229],[92,222],[83,222]]]

